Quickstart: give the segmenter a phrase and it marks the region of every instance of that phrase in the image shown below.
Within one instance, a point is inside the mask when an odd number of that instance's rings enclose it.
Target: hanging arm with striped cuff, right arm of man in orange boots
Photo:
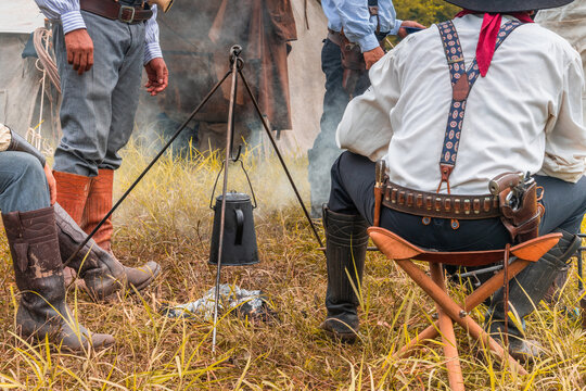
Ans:
[[[146,91],[151,96],[162,92],[169,83],[169,72],[163,60],[163,52],[158,43],[158,24],[156,23],[157,7],[152,5],[153,16],[146,21],[144,36],[144,70],[149,80]]]

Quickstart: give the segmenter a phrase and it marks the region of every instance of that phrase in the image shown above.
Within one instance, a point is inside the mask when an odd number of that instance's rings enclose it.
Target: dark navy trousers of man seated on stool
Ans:
[[[360,214],[369,224],[374,215],[374,163],[368,157],[344,152],[331,171],[332,188],[329,207],[333,212]],[[556,228],[571,234],[579,231],[586,213],[586,178],[577,184],[561,179],[535,176],[545,193],[542,203],[545,214],[539,235]],[[474,251],[502,249],[510,236],[499,218],[459,220],[460,227],[451,229],[449,219],[432,218],[430,225],[421,216],[382,207],[381,227],[386,228],[411,243],[438,251]]]

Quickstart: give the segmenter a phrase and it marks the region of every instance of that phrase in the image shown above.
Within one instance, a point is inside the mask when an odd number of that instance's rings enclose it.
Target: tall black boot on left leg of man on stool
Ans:
[[[328,263],[328,317],[320,327],[342,342],[354,343],[358,332],[357,293],[362,282],[368,223],[360,215],[335,213],[324,206],[323,227]]]

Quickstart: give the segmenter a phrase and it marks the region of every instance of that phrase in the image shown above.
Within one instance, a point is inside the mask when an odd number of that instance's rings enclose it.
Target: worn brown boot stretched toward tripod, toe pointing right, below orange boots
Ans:
[[[61,256],[63,262],[66,262],[87,235],[59,203],[55,203],[54,209]],[[104,300],[123,288],[140,291],[161,273],[161,266],[156,262],[148,262],[138,268],[126,267],[114,255],[100,248],[93,239],[77,253],[69,266],[84,279],[88,293],[97,301]]]

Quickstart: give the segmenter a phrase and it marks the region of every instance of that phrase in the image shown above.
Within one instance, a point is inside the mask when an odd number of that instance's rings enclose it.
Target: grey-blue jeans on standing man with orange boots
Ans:
[[[78,75],[67,63],[63,27],[53,29],[61,77],[63,138],[55,150],[54,169],[97,176],[99,168],[116,169],[118,151],[132,133],[138,108],[144,23],[128,25],[81,11],[93,40],[92,68]]]

